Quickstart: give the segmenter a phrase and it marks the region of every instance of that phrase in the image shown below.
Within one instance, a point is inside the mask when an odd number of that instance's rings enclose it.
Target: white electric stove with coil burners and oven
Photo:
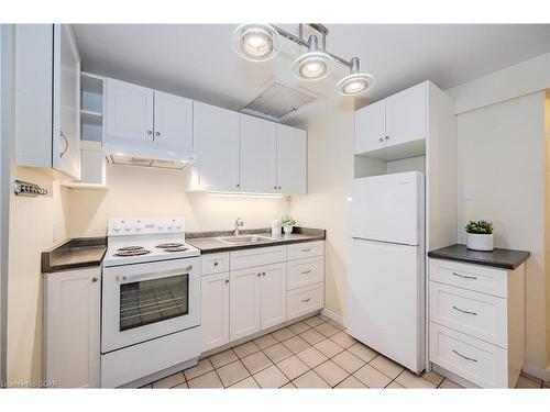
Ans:
[[[182,218],[110,219],[101,386],[146,383],[200,355],[200,250]]]

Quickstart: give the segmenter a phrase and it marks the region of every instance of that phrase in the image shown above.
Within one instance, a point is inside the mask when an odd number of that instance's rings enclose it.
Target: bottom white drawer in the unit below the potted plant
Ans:
[[[430,322],[430,360],[482,388],[508,387],[508,352]]]

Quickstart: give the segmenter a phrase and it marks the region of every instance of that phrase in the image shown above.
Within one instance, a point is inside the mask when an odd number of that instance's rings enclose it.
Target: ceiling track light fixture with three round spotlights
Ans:
[[[294,75],[305,81],[317,81],[328,77],[334,63],[350,69],[350,75],[337,83],[337,90],[343,96],[356,96],[372,87],[374,77],[360,73],[359,58],[346,60],[327,52],[327,35],[329,30],[319,23],[308,23],[308,26],[320,34],[321,45],[317,35],[304,38],[304,24],[298,24],[298,35],[287,32],[273,24],[241,24],[233,32],[233,47],[237,53],[251,62],[266,62],[275,57],[280,48],[279,36],[307,48],[293,63]]]

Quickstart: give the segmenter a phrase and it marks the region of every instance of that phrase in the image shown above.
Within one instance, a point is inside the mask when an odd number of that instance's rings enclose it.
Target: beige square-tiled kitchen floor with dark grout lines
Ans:
[[[201,359],[144,388],[461,388],[431,371],[416,376],[359,343],[324,316],[312,316]],[[548,388],[521,376],[517,388]]]

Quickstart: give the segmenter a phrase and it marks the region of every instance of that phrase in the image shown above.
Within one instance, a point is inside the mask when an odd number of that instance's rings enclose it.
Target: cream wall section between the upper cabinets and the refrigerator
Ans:
[[[292,213],[300,225],[327,230],[324,307],[346,313],[348,185],[353,179],[353,101],[327,104],[307,122],[308,194],[293,197]]]

